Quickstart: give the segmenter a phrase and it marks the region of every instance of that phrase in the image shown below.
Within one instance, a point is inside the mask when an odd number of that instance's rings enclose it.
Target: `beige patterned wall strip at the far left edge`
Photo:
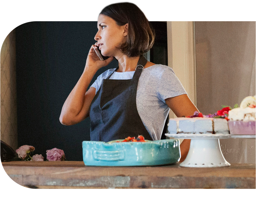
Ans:
[[[14,150],[17,140],[16,51],[15,31],[4,40],[1,48],[1,140]]]

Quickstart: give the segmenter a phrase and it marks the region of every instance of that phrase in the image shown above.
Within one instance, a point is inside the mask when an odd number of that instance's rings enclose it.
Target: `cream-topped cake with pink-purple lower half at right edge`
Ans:
[[[229,129],[233,135],[255,135],[255,96],[243,99],[240,107],[229,111]]]

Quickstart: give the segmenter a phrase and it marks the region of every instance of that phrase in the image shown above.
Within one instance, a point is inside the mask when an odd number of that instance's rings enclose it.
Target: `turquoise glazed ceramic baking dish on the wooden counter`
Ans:
[[[88,166],[175,164],[181,157],[179,142],[178,139],[120,143],[83,141],[83,162]]]

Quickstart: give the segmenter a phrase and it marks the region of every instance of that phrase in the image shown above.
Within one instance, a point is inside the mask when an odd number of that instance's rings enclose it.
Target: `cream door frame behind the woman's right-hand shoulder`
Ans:
[[[196,105],[195,33],[192,21],[167,21],[168,66]],[[169,118],[176,117],[170,111]]]

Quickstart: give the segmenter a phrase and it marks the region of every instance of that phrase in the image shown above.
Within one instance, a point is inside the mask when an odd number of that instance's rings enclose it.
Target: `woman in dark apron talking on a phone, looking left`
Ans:
[[[143,54],[153,46],[155,35],[135,4],[105,7],[97,27],[97,42],[91,46],[84,71],[63,105],[62,124],[73,125],[89,116],[92,141],[107,142],[137,135],[159,140],[170,109],[177,117],[198,111],[171,68],[144,58]],[[109,58],[99,60],[97,47]],[[105,71],[87,91],[97,70],[114,58],[118,60],[118,68]],[[188,149],[189,141],[184,140],[182,155]]]

